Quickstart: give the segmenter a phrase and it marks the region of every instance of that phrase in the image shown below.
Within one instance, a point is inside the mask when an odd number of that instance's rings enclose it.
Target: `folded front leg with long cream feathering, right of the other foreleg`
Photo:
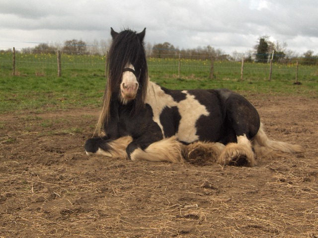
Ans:
[[[177,140],[176,136],[153,143],[142,141],[137,139],[127,146],[127,154],[131,160],[184,162],[182,157],[183,144]]]

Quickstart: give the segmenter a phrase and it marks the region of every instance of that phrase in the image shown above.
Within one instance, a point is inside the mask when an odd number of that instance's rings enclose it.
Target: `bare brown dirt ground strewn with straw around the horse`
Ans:
[[[85,155],[98,110],[0,119],[0,237],[318,238],[318,99],[247,97],[303,154],[253,168]]]

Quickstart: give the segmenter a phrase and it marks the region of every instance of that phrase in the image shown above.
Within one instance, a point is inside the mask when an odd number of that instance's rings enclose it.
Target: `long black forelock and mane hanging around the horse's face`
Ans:
[[[115,39],[113,39],[107,55],[106,66],[108,77],[104,92],[103,107],[95,133],[97,131],[101,132],[104,124],[107,124],[109,121],[111,101],[118,99],[123,69],[130,63],[134,65],[137,72],[140,72],[140,86],[132,104],[132,115],[134,115],[144,107],[148,84],[148,67],[143,41],[135,31],[124,30],[118,33]]]

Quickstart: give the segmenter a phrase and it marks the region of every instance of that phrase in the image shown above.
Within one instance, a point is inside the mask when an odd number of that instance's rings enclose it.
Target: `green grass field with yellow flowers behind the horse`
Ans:
[[[35,110],[66,110],[100,107],[105,86],[105,57],[62,55],[62,77],[57,77],[56,55],[16,54],[16,76],[12,76],[12,54],[0,53],[0,113]],[[250,93],[302,95],[317,97],[318,67],[273,64],[268,81],[269,64],[245,63],[240,79],[240,62],[214,64],[210,79],[210,60],[148,59],[152,81],[170,89],[229,88],[247,96]]]

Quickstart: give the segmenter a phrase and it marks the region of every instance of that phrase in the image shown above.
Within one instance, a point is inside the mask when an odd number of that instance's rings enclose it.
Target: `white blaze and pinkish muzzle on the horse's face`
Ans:
[[[132,64],[129,64],[127,68],[135,70]],[[123,102],[134,100],[138,91],[139,83],[135,74],[131,71],[124,71],[122,82],[120,84],[120,92]]]

